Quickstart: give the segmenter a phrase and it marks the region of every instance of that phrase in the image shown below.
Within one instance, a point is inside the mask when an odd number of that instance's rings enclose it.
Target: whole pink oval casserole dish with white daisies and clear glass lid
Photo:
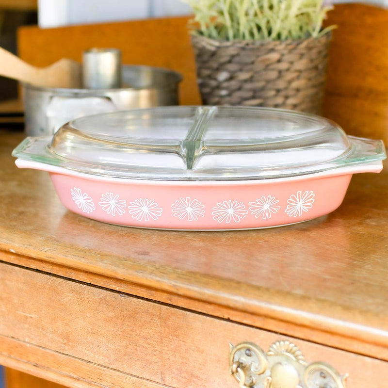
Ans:
[[[381,141],[292,111],[163,107],[82,117],[25,139],[65,207],[97,221],[179,230],[284,226],[337,209],[352,175],[380,172]]]

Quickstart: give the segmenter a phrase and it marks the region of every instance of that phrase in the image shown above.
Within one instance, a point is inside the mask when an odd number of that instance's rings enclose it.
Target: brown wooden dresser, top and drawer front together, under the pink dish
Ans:
[[[0,364],[68,387],[232,388],[229,342],[289,340],[348,388],[388,386],[387,168],[304,224],[145,230],[66,211],[47,173],[15,167],[21,139],[0,132]]]

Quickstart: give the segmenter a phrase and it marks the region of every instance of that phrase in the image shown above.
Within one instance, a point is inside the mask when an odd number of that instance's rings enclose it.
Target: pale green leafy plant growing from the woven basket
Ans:
[[[194,11],[193,33],[219,40],[286,40],[319,37],[324,0],[182,0]]]

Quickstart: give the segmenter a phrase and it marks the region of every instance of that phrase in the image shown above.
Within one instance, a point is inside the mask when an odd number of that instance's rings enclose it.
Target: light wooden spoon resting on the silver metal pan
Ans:
[[[63,58],[47,67],[35,67],[0,48],[0,75],[36,86],[80,88],[81,64]]]

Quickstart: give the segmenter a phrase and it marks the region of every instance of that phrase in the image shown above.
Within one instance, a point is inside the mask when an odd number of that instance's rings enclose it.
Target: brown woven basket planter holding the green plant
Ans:
[[[193,35],[203,104],[319,114],[330,38],[226,42]]]

